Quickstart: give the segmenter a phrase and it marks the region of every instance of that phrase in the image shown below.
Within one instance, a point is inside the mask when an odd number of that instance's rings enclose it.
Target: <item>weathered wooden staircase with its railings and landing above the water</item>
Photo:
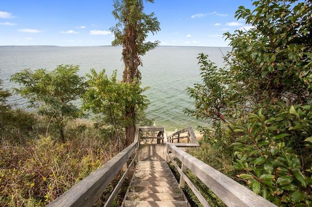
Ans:
[[[163,137],[155,137],[153,135],[155,132]],[[152,137],[144,137],[144,133],[152,133]],[[191,171],[229,207],[276,207],[263,197],[254,194],[252,190],[185,152],[190,147],[198,146],[192,127],[179,130],[167,137],[164,127],[139,126],[132,144],[47,207],[92,207],[112,180],[124,169],[123,175],[104,205],[111,207],[136,161],[137,168],[122,203],[124,207],[190,207],[180,188],[184,185],[188,185],[202,206],[210,207],[206,198],[185,174],[187,171]],[[181,162],[181,167],[176,160]],[[166,161],[171,162],[180,174],[179,184]]]

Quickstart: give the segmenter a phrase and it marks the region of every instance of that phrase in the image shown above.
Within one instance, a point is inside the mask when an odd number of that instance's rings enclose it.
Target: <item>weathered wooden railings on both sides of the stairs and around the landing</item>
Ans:
[[[158,136],[144,137],[143,132],[159,132]],[[187,133],[187,135],[184,135]],[[161,135],[161,136],[160,136]],[[125,177],[137,159],[137,151],[141,139],[153,138],[167,144],[168,162],[172,162],[180,173],[179,185],[183,188],[187,184],[195,193],[198,200],[204,207],[209,207],[205,198],[196,189],[195,185],[186,175],[186,170],[193,172],[208,188],[210,188],[227,206],[275,206],[253,191],[238,184],[226,175],[218,172],[214,168],[196,159],[192,155],[184,152],[185,147],[198,147],[199,144],[195,137],[195,133],[191,127],[175,132],[167,137],[163,127],[137,127],[134,142],[122,152],[114,156],[111,160],[105,163],[102,167],[84,178],[70,190],[59,196],[56,200],[50,203],[49,207],[66,206],[66,207],[91,207],[97,201],[102,192],[106,189],[109,183],[117,176],[122,169],[126,169],[123,176],[119,180],[117,186],[113,190],[105,206],[110,206],[117,195]],[[180,142],[180,140],[185,141]],[[127,161],[132,158],[132,162],[127,166]],[[181,168],[176,164],[174,158],[181,161]]]

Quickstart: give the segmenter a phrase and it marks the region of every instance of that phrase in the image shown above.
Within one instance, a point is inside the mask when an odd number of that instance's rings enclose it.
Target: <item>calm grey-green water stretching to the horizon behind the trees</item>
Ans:
[[[193,108],[193,100],[186,94],[186,87],[200,82],[197,65],[198,53],[203,52],[219,67],[223,66],[222,53],[230,48],[213,47],[158,47],[143,56],[142,86],[150,86],[145,95],[151,104],[146,111],[157,126],[167,131],[187,126],[207,125],[183,113],[184,108]],[[60,64],[80,66],[80,75],[90,69],[106,69],[110,76],[114,69],[121,78],[123,63],[121,47],[0,47],[0,79],[3,88],[11,89],[16,85],[9,81],[11,75],[22,69],[55,69]],[[17,107],[26,107],[27,101],[17,95],[8,99]]]

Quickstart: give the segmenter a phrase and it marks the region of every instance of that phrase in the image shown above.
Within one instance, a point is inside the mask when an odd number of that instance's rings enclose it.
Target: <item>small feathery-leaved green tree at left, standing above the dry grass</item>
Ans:
[[[24,69],[11,77],[11,81],[22,85],[15,91],[27,98],[30,106],[39,107],[39,114],[56,123],[63,142],[67,122],[82,115],[73,104],[85,91],[84,78],[77,72],[78,66],[59,65],[50,72],[46,69]]]

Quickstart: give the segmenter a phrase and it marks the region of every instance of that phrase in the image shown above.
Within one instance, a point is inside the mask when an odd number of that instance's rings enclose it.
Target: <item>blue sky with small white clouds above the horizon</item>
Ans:
[[[225,32],[246,27],[234,13],[251,0],[155,0],[161,31],[148,40],[160,45],[226,47]],[[0,45],[111,45],[113,0],[1,0]]]

